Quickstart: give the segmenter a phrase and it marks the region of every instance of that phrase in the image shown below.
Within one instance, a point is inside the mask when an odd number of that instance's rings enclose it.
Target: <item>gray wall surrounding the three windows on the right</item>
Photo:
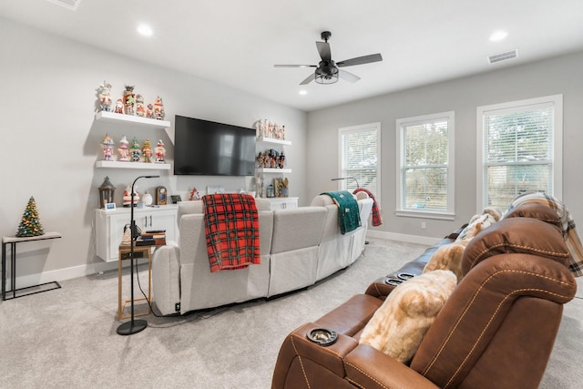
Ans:
[[[381,122],[384,224],[373,228],[385,237],[414,235],[439,238],[469,220],[476,206],[476,107],[531,97],[563,94],[563,200],[575,220],[583,222],[580,201],[583,168],[583,53],[559,56],[524,66],[506,67],[472,77],[416,87],[308,114],[308,197],[336,189],[338,128]],[[395,75],[398,77],[398,75]],[[396,217],[395,120],[455,111],[455,220]],[[331,148],[322,148],[328,143]],[[421,229],[425,221],[426,230]]]

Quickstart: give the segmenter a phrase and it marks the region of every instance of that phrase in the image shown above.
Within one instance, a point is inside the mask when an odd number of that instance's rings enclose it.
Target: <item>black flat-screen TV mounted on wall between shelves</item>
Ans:
[[[253,176],[255,129],[177,115],[174,174]]]

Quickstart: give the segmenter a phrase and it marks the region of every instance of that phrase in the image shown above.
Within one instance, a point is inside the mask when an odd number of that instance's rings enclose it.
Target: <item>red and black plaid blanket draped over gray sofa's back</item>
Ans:
[[[210,272],[260,264],[259,218],[251,195],[202,197]]]

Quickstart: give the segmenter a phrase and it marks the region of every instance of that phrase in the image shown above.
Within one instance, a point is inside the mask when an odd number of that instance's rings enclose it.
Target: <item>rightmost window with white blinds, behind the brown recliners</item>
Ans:
[[[562,95],[477,107],[477,205],[506,210],[519,194],[562,196]]]

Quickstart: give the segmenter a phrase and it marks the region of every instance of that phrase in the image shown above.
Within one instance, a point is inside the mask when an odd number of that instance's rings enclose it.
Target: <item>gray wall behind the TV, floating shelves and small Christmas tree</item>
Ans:
[[[93,215],[98,207],[97,188],[108,176],[117,187],[119,205],[123,189],[138,175],[148,173],[148,170],[95,168],[96,160],[102,159],[100,143],[110,129],[94,122],[95,89],[104,79],[112,84],[112,96],[116,98],[120,97],[124,84],[135,85],[136,92],[147,100],[161,96],[171,122],[179,114],[245,127],[251,127],[260,118],[284,124],[286,138],[292,141],[292,146],[285,149],[288,166],[293,170],[289,175],[290,195],[300,197],[301,204],[305,204],[305,112],[46,35],[2,18],[0,41],[3,43],[0,233],[15,235],[32,195],[44,229],[59,231],[64,236],[50,243],[18,246],[18,278],[23,279],[19,287],[106,269],[95,255]],[[110,135],[117,144],[123,134],[115,131]],[[172,163],[173,135],[173,128],[169,128],[166,133],[145,130],[141,137],[152,141],[162,138]],[[142,179],[138,186],[141,193],[145,190],[152,193],[157,186],[165,185],[171,194],[188,199],[192,187],[204,190],[207,185],[223,185],[227,190],[237,190],[249,188],[250,181],[176,177],[171,171],[161,171],[159,179]]]

